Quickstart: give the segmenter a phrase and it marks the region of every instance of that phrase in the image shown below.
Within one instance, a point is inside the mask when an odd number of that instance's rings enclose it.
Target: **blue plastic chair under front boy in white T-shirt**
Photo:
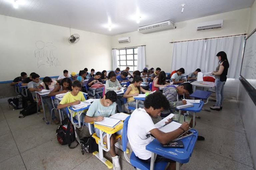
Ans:
[[[134,152],[131,153],[130,159],[127,157],[126,148],[127,148],[127,143],[129,142],[128,137],[127,137],[127,128],[128,128],[128,121],[129,121],[130,117],[131,116],[128,116],[125,119],[124,125],[123,125],[122,146],[123,146],[123,150],[125,150],[124,151],[124,157],[135,168],[139,168],[141,170],[149,170],[150,169],[150,162],[145,162],[145,161],[139,159],[134,154]],[[163,169],[165,169],[167,164],[168,164],[168,162],[156,162],[155,166],[154,166],[154,170],[163,170]]]

